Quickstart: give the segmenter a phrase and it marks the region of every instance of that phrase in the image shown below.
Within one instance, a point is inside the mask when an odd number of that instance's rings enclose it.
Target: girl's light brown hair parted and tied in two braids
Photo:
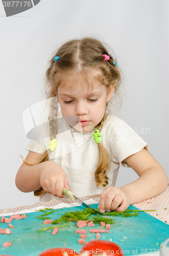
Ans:
[[[109,60],[104,60],[104,54],[110,56]],[[54,57],[60,58],[54,62]],[[120,85],[121,75],[119,68],[114,65],[114,60],[110,53],[106,50],[103,44],[95,38],[85,37],[82,39],[73,39],[65,42],[54,54],[50,60],[50,67],[46,71],[46,96],[47,99],[53,98],[50,105],[50,115],[48,117],[50,124],[50,138],[55,139],[57,127],[57,88],[63,80],[71,81],[74,84],[78,77],[82,77],[91,87],[92,81],[99,80],[106,86],[107,91],[110,85],[114,84],[114,92]],[[106,103],[107,109],[108,102]],[[104,121],[108,113],[104,114],[101,122],[96,125],[97,129],[101,131]],[[98,143],[99,148],[99,162],[95,170],[96,186],[105,187],[108,184],[107,172],[109,169],[109,156],[106,148],[101,142]],[[57,148],[56,148],[57,150]],[[39,164],[49,160],[50,150],[43,153]],[[27,163],[25,160],[23,160]],[[27,163],[28,164],[28,163]],[[44,194],[42,187],[34,191],[35,196]]]

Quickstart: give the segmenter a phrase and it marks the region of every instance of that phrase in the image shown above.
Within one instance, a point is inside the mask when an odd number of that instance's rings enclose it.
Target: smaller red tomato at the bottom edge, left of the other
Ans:
[[[69,248],[53,248],[53,249],[49,249],[49,250],[43,251],[41,254],[39,254],[39,256],[63,256],[64,253],[67,253],[69,256],[79,255],[73,249],[69,249]]]

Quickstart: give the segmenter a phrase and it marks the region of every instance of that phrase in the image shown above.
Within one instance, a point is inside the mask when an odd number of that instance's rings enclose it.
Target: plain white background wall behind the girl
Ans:
[[[43,74],[51,52],[75,37],[93,35],[111,45],[125,76],[124,104],[115,114],[149,144],[169,176],[168,11],[167,0],[41,0],[6,17],[0,3],[1,209],[38,201],[15,186],[19,155],[26,157],[29,143],[22,113],[44,99]],[[131,168],[120,168],[116,185],[136,178]]]

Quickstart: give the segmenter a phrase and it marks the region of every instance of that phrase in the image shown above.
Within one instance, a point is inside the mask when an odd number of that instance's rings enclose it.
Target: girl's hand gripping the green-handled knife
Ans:
[[[63,187],[70,190],[64,169],[53,161],[40,163],[40,186],[47,193],[63,198]]]

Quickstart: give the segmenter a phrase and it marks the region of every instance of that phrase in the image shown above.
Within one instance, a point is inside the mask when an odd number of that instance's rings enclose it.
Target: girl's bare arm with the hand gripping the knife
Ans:
[[[25,160],[30,164],[35,164],[40,156],[40,154],[30,151]],[[42,186],[45,192],[60,198],[63,198],[64,186],[70,189],[63,168],[53,161],[32,166],[22,163],[16,174],[15,184],[20,191],[26,193]]]

